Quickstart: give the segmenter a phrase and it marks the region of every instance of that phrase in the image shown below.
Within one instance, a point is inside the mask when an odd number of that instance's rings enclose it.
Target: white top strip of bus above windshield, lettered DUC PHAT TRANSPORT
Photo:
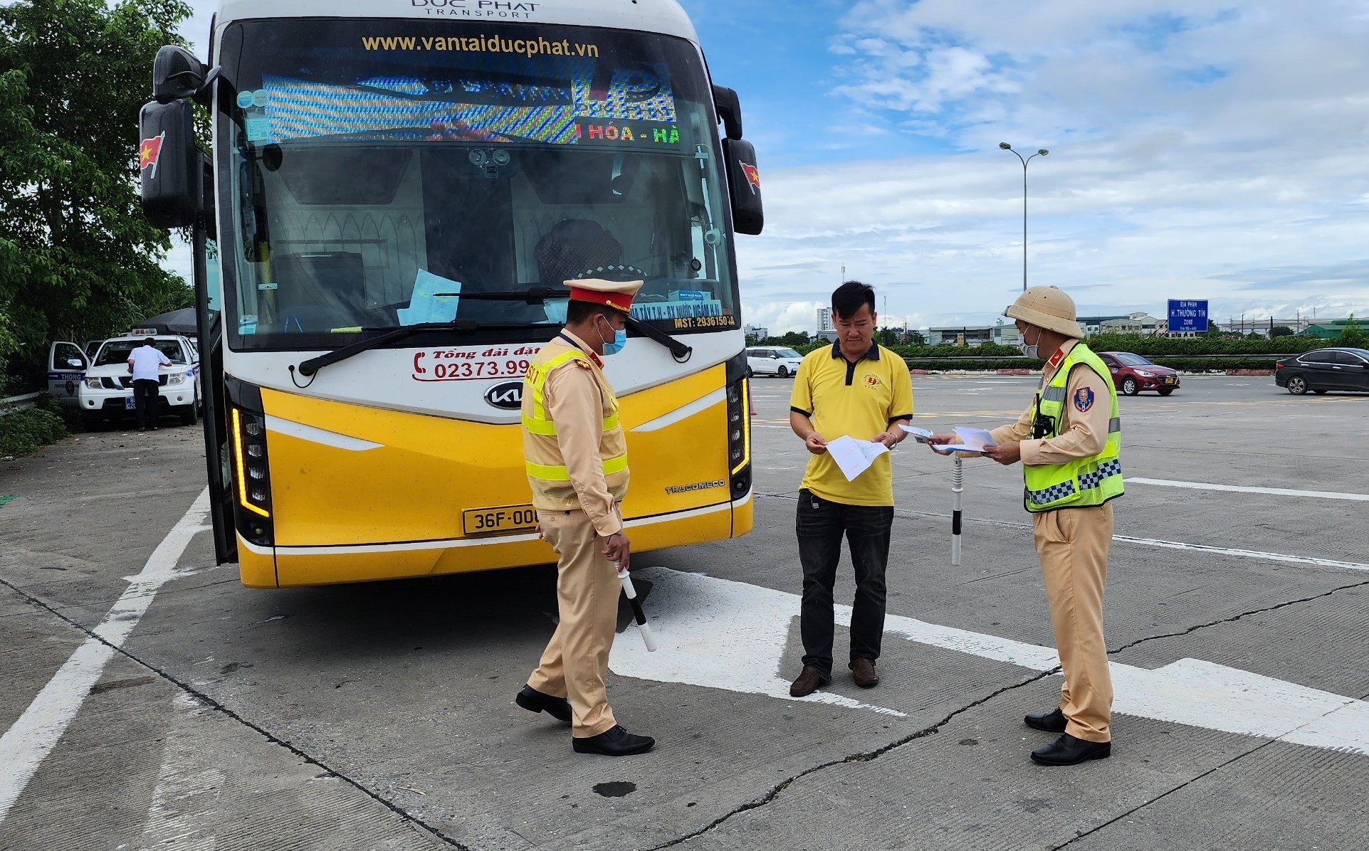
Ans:
[[[698,44],[676,0],[223,0],[218,26],[261,18],[420,18],[564,23],[679,36]]]

